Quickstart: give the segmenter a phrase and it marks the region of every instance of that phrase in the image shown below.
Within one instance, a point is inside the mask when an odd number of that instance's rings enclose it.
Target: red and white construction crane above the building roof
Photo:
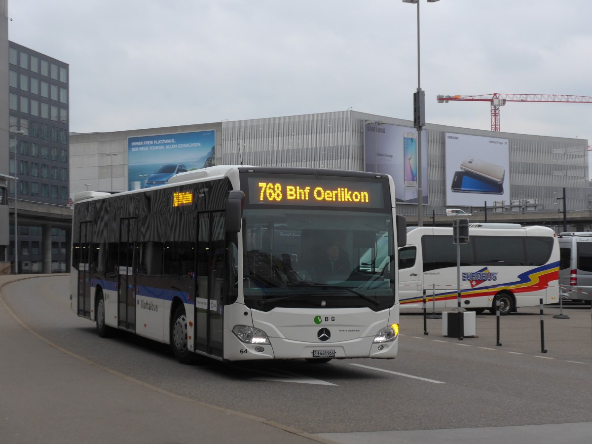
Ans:
[[[584,95],[558,94],[485,94],[485,95],[438,95],[438,103],[451,100],[466,102],[490,102],[491,131],[500,131],[500,107],[506,102],[560,102],[560,103],[592,103],[592,97]]]

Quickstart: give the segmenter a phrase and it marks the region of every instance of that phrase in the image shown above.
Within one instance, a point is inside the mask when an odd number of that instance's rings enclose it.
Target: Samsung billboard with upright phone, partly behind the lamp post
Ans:
[[[422,131],[427,139],[427,131]],[[395,182],[395,200],[417,204],[417,131],[390,124],[366,124],[366,171],[385,173]],[[422,143],[422,195],[427,204],[427,144]]]

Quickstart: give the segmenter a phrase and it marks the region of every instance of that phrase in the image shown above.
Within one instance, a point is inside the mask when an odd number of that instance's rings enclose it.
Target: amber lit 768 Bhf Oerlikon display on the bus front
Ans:
[[[249,178],[251,204],[381,208],[382,186],[348,180]]]

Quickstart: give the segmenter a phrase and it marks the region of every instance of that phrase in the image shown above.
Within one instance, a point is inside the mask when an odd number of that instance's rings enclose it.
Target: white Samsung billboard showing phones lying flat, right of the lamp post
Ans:
[[[510,199],[507,139],[445,133],[446,205],[482,207]]]

